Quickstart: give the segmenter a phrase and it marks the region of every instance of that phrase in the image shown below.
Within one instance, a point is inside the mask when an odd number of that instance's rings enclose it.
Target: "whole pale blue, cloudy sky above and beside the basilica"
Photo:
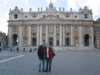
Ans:
[[[88,6],[92,9],[93,20],[100,18],[100,0],[0,0],[0,31],[8,33],[7,20],[9,20],[10,9],[13,10],[15,6],[18,6],[19,9],[23,8],[23,11],[27,12],[30,8],[32,11],[38,11],[38,7],[45,10],[50,1],[57,10],[59,7],[64,7],[65,11],[70,11],[70,8],[73,11],[79,11],[80,7],[83,9],[84,6]]]

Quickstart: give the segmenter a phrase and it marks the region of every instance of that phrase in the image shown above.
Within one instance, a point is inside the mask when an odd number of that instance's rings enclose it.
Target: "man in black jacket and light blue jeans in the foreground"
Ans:
[[[42,43],[42,45],[39,46],[37,54],[38,54],[38,58],[39,58],[39,72],[41,72],[41,62],[43,63],[42,71],[44,71],[45,57],[46,57],[46,46],[45,46],[44,42]]]

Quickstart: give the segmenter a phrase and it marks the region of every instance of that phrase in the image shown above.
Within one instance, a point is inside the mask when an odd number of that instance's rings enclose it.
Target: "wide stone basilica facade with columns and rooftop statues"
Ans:
[[[87,6],[79,11],[65,11],[65,8],[49,7],[37,12],[29,9],[23,12],[10,9],[8,20],[8,46],[39,46],[44,41],[53,47],[94,48],[94,22],[92,10]]]

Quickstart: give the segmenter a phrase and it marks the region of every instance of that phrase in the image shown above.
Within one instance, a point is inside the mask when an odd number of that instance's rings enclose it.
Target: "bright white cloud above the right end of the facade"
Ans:
[[[68,8],[79,9],[88,6],[92,9],[93,16],[100,15],[100,0],[67,0]]]

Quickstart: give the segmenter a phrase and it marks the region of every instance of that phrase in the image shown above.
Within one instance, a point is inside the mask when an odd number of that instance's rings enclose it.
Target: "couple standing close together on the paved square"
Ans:
[[[45,43],[43,42],[42,45],[38,48],[38,58],[39,58],[39,72],[41,72],[41,63],[42,63],[42,71],[44,72],[50,72],[51,71],[51,63],[52,59],[54,57],[54,51],[47,43],[45,46]],[[46,69],[45,68],[45,60],[46,60]]]

